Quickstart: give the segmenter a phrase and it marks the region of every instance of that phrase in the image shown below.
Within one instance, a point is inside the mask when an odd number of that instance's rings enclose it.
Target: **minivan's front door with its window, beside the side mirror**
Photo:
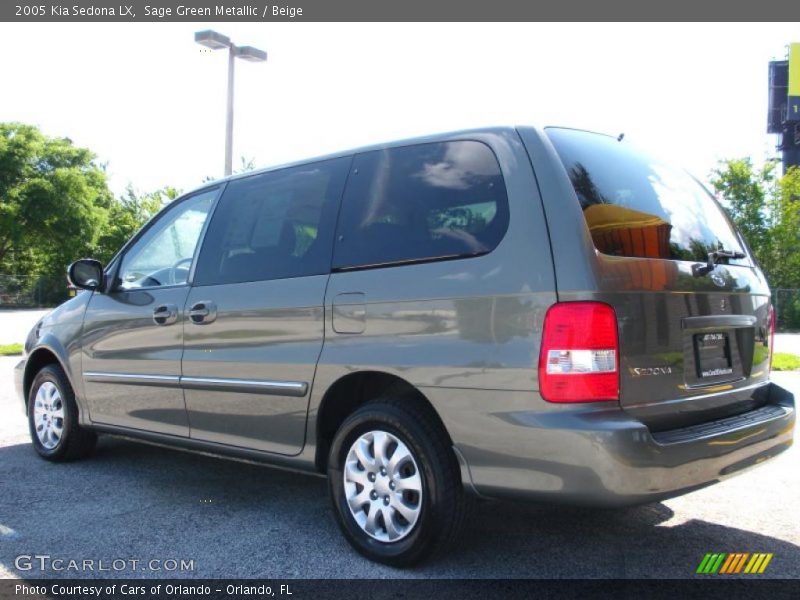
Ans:
[[[92,295],[82,368],[93,422],[189,435],[180,387],[182,312],[197,243],[218,192],[199,192],[160,214],[121,257],[109,293]]]

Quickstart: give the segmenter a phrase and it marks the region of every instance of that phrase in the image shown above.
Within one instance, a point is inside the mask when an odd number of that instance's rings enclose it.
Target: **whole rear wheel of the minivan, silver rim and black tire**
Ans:
[[[418,562],[451,545],[461,528],[458,463],[427,412],[381,399],[356,410],[334,438],[328,482],[336,518],[371,560]]]

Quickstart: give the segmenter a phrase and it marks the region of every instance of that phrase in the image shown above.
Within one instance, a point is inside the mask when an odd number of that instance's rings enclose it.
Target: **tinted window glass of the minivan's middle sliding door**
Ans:
[[[230,182],[209,223],[194,285],[327,273],[349,164],[334,159]]]

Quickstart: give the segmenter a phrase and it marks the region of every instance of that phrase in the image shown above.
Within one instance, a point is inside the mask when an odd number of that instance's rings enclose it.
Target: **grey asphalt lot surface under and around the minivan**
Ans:
[[[682,578],[706,552],[772,552],[766,575],[800,577],[797,447],[741,477],[636,508],[482,503],[457,549],[402,571],[350,550],[321,478],[110,437],[82,462],[38,459],[12,391],[18,360],[0,359],[0,577],[79,576],[15,567],[19,555],[47,554],[142,561],[104,577]],[[800,396],[799,375],[776,379]],[[193,570],[142,570],[169,559]]]

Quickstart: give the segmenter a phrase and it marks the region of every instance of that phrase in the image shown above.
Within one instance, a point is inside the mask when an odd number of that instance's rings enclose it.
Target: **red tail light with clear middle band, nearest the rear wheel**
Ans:
[[[539,393],[548,402],[619,400],[619,339],[614,309],[560,302],[544,318]]]

